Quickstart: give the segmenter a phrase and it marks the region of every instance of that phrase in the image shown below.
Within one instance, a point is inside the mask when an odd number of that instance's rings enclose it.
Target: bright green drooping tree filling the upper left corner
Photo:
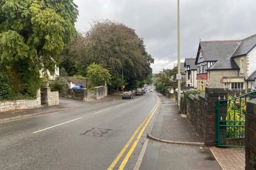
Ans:
[[[73,0],[0,0],[0,74],[14,91],[35,97],[40,70],[54,73],[77,16]]]

